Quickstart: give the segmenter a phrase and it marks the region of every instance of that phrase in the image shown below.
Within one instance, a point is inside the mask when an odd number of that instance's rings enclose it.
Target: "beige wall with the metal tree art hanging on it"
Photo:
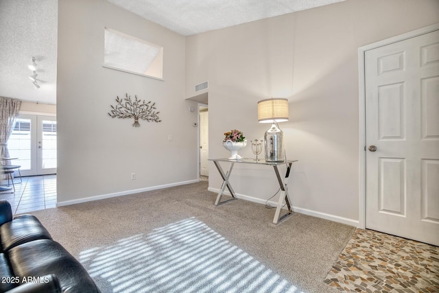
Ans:
[[[185,37],[104,0],[60,0],[58,204],[197,180],[197,121],[185,95]],[[104,27],[164,47],[164,81],[102,67]],[[162,122],[112,119],[117,96],[156,102]],[[169,135],[172,141],[168,140]],[[135,172],[137,180],[131,180]]]

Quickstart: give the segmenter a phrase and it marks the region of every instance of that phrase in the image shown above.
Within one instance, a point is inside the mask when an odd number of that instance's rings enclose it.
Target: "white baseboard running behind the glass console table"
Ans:
[[[216,193],[219,192],[218,188],[209,187],[208,190],[216,192]],[[230,192],[228,192],[228,191],[224,191],[224,194],[227,194],[228,196],[230,196]],[[262,198],[254,198],[252,196],[246,196],[245,194],[235,194],[235,196],[237,198],[240,198],[242,200],[248,200],[250,202],[257,202],[259,204],[268,203],[272,207],[276,207],[277,206],[277,202],[272,202],[272,201],[268,201],[267,202],[267,200],[264,200]],[[325,220],[330,220],[330,221],[333,221],[333,222],[338,222],[338,223],[346,224],[346,225],[349,225],[349,226],[355,226],[357,228],[359,227],[359,220],[343,218],[343,217],[340,217],[338,215],[331,215],[329,213],[321,213],[320,211],[312,211],[310,209],[302,209],[300,207],[294,207],[294,206],[293,206],[293,211],[295,211],[297,213],[303,213],[304,215],[312,215],[313,217],[316,217],[316,218],[322,218],[322,219],[325,219]]]

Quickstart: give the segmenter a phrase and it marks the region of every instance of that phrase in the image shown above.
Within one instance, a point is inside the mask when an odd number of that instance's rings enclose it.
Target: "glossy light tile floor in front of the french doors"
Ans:
[[[15,193],[0,193],[0,200],[8,200],[14,214],[29,213],[56,207],[56,175],[15,178]],[[3,180],[2,183],[6,183]],[[7,193],[9,192],[9,193]]]

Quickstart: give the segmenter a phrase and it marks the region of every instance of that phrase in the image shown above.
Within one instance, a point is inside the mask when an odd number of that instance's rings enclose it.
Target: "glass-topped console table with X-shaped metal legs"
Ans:
[[[230,178],[230,174],[232,174],[232,169],[233,169],[233,166],[235,165],[235,163],[256,164],[256,165],[272,166],[274,169],[274,173],[276,173],[276,178],[278,180],[279,186],[281,187],[281,196],[279,196],[279,200],[278,200],[278,203],[276,206],[276,213],[274,213],[273,224],[278,224],[278,222],[280,222],[281,220],[284,220],[285,218],[287,218],[289,215],[291,215],[293,213],[292,200],[291,200],[291,198],[289,198],[287,181],[288,181],[288,177],[289,177],[289,172],[291,171],[292,163],[294,163],[298,160],[288,160],[288,161],[283,161],[283,162],[267,162],[265,160],[256,161],[254,159],[244,159],[243,158],[243,159],[239,159],[239,160],[209,159],[209,161],[213,161],[213,163],[217,167],[218,172],[221,175],[222,180],[223,180],[223,183],[221,185],[221,189],[219,189],[217,199],[215,200],[215,206],[217,206],[219,204],[224,204],[226,202],[229,202],[230,200],[237,199],[237,197],[235,195],[235,191],[233,190],[233,187],[232,187],[232,185],[230,185],[230,181],[228,180]],[[224,173],[224,170],[222,169],[221,165],[219,164],[220,162],[230,163],[230,167],[228,169],[228,172]],[[279,165],[287,165],[287,172],[285,174],[284,179],[282,179],[281,174],[279,173],[279,170],[278,170]],[[226,189],[226,187],[227,187],[228,191],[230,191],[230,195],[232,196],[232,198],[230,198],[228,200],[221,201],[221,197],[224,194],[224,190]],[[287,213],[285,213],[285,215],[282,215],[281,217],[279,217],[279,215],[281,214],[283,200],[285,200],[285,203],[287,204],[288,211],[287,211]]]

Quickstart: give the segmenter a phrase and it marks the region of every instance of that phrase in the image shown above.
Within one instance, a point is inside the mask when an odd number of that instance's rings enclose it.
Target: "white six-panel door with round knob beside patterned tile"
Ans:
[[[365,52],[366,228],[439,245],[439,31]]]

